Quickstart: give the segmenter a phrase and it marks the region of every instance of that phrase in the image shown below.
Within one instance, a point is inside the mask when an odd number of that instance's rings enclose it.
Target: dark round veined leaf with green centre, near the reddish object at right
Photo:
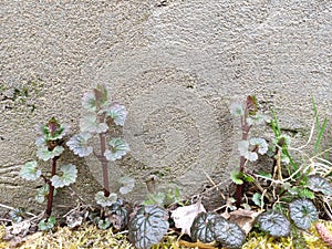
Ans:
[[[290,218],[298,228],[307,230],[311,222],[318,220],[318,210],[309,199],[297,199],[289,205]]]

